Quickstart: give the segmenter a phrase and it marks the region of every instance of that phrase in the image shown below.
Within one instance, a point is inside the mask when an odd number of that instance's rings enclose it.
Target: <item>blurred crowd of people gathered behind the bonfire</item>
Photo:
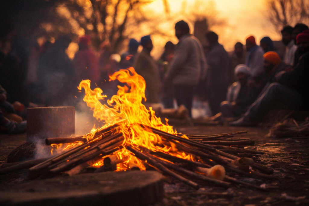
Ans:
[[[281,30],[285,51],[280,52],[269,36],[257,44],[254,36],[237,42],[228,53],[213,31],[205,33],[208,45],[190,33],[188,23],[175,24],[178,43],[168,41],[159,60],[150,52],[151,36],[130,39],[128,50],[113,54],[108,42],[100,55],[91,48],[90,36],[79,38],[78,51],[71,60],[66,54],[68,36],[54,43],[46,41],[25,46],[16,38],[11,51],[0,55],[0,123],[4,132],[25,131],[23,107],[75,106],[82,100],[77,85],[91,79],[108,97],[116,94],[119,82],[107,81],[120,69],[134,67],[146,81],[146,102],[164,108],[184,105],[192,116],[193,99],[207,101],[213,119],[231,119],[234,126],[251,126],[269,109],[308,110],[309,30],[305,24]],[[138,48],[142,50],[138,52]]]

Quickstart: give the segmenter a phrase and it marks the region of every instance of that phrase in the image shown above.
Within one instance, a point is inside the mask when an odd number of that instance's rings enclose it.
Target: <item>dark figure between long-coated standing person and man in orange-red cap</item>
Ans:
[[[236,81],[235,67],[239,64],[246,62],[246,53],[243,49],[243,44],[236,42],[234,45],[234,51],[230,54],[230,72],[229,72],[229,84],[233,84]]]

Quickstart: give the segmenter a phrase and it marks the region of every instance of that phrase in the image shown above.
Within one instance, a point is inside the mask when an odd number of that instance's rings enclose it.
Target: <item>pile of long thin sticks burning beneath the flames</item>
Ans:
[[[102,157],[110,155],[123,147],[140,159],[146,168],[147,166],[149,166],[148,168],[155,168],[163,174],[176,178],[196,189],[202,184],[231,187],[231,185],[236,183],[265,190],[236,178],[239,176],[258,179],[274,178],[270,175],[273,173],[271,168],[256,162],[249,161],[252,169],[248,170],[241,170],[240,166],[235,164],[235,162],[238,164],[246,162],[242,161],[238,154],[246,153],[253,156],[264,154],[264,152],[241,148],[244,145],[254,144],[250,138],[232,138],[233,135],[245,133],[246,131],[216,135],[187,135],[189,139],[186,139],[153,127],[140,126],[144,130],[153,132],[161,137],[162,142],[158,143],[157,147],[172,147],[176,145],[178,151],[192,155],[194,161],[176,157],[176,154],[171,151],[168,153],[155,152],[140,145],[134,146],[129,144],[127,141],[124,141],[123,134],[117,129],[118,126],[114,125],[97,131],[90,141],[63,152],[56,157],[51,157],[47,160],[42,159],[41,163],[32,166],[28,170],[29,178],[46,178],[60,174],[79,174],[85,171],[90,161],[95,163],[102,160]],[[56,140],[53,139],[53,143],[57,143]],[[62,141],[63,139],[59,140]],[[239,147],[239,145],[241,146]],[[211,168],[214,165],[222,165],[225,168],[226,175],[223,180],[210,178],[205,174],[197,172],[197,167]],[[0,169],[0,174],[3,173],[1,171],[3,169]]]

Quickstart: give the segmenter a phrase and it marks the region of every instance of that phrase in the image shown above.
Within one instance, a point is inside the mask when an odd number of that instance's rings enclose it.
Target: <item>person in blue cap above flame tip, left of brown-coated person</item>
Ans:
[[[119,67],[120,69],[126,69],[133,66],[134,58],[137,54],[139,43],[136,39],[130,39],[129,49],[125,53],[121,54]]]

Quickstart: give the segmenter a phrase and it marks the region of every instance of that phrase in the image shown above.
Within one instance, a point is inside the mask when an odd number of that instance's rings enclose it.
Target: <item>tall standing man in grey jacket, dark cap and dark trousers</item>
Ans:
[[[202,45],[190,34],[187,22],[181,20],[175,24],[175,36],[179,42],[164,76],[164,85],[172,84],[177,105],[184,105],[191,117],[193,95],[199,81],[205,78],[206,60]]]

